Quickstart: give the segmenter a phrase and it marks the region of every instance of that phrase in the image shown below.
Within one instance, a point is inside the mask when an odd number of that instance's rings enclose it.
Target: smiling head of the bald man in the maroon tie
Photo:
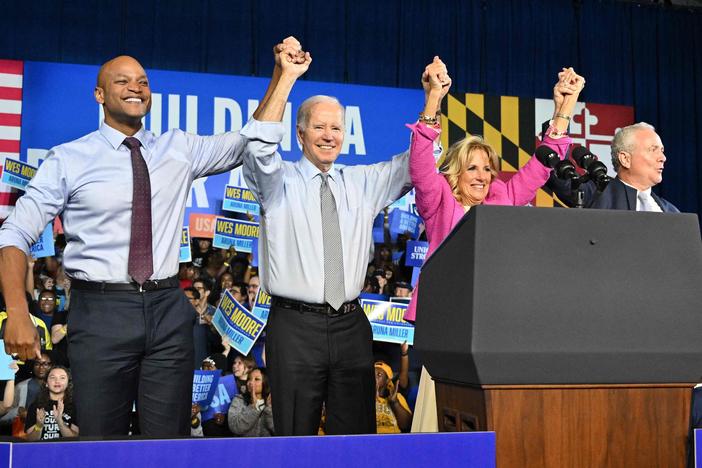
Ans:
[[[103,106],[105,123],[125,135],[134,135],[151,109],[146,72],[132,57],[110,60],[98,74],[95,100]]]

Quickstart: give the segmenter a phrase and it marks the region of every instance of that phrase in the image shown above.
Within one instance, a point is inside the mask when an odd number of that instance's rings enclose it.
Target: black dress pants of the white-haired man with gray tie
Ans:
[[[276,435],[375,433],[373,333],[360,305],[339,317],[271,306],[266,364]]]

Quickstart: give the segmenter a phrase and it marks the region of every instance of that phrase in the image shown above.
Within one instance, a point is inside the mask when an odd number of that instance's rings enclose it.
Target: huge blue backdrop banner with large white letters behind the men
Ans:
[[[50,148],[97,130],[102,109],[92,90],[98,69],[97,65],[24,62],[22,162],[38,167]],[[152,105],[144,125],[157,136],[170,128],[199,135],[239,130],[253,114],[270,81],[167,70],[147,70],[147,74]],[[55,83],[61,83],[60,93]],[[410,132],[404,124],[416,119],[424,102],[419,83],[414,89],[400,89],[298,81],[283,117],[285,134],[279,151],[285,160],[296,161],[301,156],[295,138],[295,114],[300,104],[315,94],[336,96],[345,106],[346,134],[337,162],[346,165],[387,161],[406,151]],[[67,109],[70,119],[66,119]],[[245,187],[240,169],[195,180],[184,219],[191,213],[220,214],[227,185]]]

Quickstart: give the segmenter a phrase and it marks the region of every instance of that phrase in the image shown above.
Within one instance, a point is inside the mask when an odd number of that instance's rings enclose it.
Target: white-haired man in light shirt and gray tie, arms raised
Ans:
[[[302,63],[299,63],[302,62]],[[269,91],[254,114],[244,177],[261,205],[261,287],[272,296],[266,364],[277,435],[317,433],[322,407],[327,434],[374,433],[372,331],[358,303],[372,248],[372,225],[386,205],[410,188],[408,152],[370,166],[338,167],[344,110],[314,96],[298,111],[303,157],[281,159],[280,123],[295,80],[311,62],[286,52],[276,57]],[[343,263],[337,305],[325,294],[323,179],[333,195]],[[325,211],[328,213],[328,211]],[[324,235],[323,235],[324,232]],[[336,270],[334,270],[336,273]],[[328,289],[327,289],[328,290]]]

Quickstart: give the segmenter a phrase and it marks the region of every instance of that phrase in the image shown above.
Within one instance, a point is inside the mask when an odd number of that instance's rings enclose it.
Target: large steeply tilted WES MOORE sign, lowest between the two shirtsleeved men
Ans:
[[[212,318],[220,335],[229,338],[232,347],[246,356],[261,336],[265,322],[239,304],[229,291],[225,291]]]

